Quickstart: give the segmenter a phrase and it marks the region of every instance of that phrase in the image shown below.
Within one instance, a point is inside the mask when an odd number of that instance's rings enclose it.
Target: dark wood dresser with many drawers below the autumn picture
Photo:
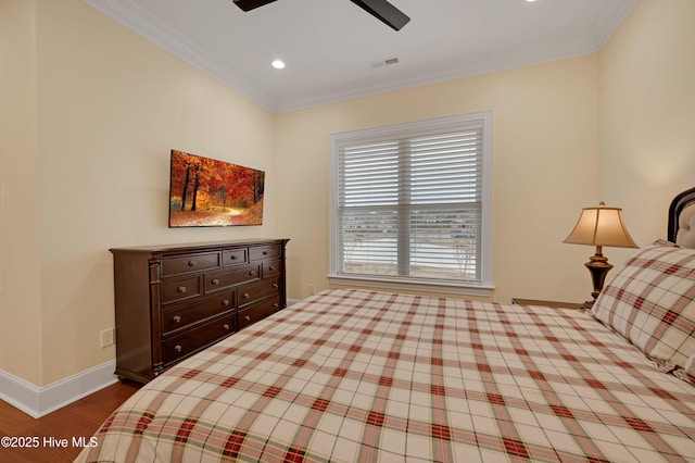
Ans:
[[[118,378],[147,383],[283,309],[288,241],[111,249]]]

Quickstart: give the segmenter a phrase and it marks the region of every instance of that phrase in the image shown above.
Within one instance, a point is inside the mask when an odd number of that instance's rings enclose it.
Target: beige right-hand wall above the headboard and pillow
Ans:
[[[666,238],[669,202],[695,187],[694,25],[693,0],[641,0],[599,53],[601,195],[641,246]]]

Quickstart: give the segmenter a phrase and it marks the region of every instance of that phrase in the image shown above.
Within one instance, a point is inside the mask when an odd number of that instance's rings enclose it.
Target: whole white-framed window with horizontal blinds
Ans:
[[[336,134],[330,280],[489,295],[491,114]]]

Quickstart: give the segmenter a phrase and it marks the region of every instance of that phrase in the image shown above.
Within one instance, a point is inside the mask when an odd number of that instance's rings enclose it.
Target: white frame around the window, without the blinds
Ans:
[[[410,133],[437,134],[442,130],[465,129],[473,122],[482,125],[482,164],[481,164],[481,234],[480,234],[480,281],[444,280],[422,277],[397,277],[378,275],[353,275],[339,272],[341,242],[338,226],[339,191],[339,149],[346,142],[370,142],[372,140],[402,139]],[[489,297],[494,289],[492,283],[492,112],[482,111],[432,120],[387,125],[361,130],[332,134],[330,137],[330,177],[329,177],[329,274],[330,284],[363,286],[370,288],[405,289],[428,292],[446,292],[468,296]]]

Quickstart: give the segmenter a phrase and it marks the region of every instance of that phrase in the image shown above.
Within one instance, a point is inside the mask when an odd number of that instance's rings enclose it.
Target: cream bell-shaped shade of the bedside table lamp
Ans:
[[[563,242],[639,248],[622,222],[622,209],[606,208],[603,202],[598,208],[584,208],[574,229]]]

